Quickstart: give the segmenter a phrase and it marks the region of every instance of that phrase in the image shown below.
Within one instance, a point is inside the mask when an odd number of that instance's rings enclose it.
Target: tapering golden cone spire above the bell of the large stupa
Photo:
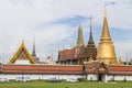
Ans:
[[[111,41],[109,28],[108,28],[108,21],[107,21],[107,11],[106,11],[106,6],[105,6],[105,11],[103,11],[103,28],[102,28],[102,34],[101,34],[101,40],[100,41]]]

